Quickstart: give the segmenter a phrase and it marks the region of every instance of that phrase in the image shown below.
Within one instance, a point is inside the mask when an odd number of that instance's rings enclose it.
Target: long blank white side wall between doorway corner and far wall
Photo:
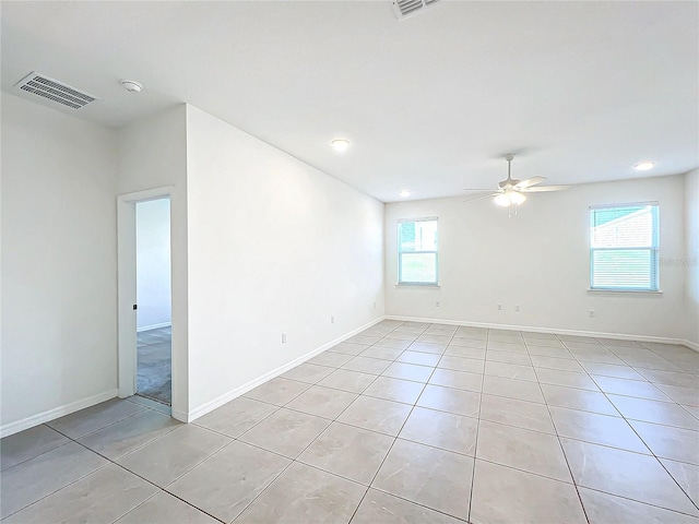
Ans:
[[[383,314],[383,204],[194,107],[187,121],[197,412]]]

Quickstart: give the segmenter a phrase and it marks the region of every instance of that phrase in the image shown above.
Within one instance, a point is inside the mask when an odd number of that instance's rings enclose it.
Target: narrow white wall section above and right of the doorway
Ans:
[[[189,413],[186,129],[185,105],[120,129],[118,186],[120,194],[171,187],[173,416],[180,419]],[[122,291],[135,299],[135,285]]]

